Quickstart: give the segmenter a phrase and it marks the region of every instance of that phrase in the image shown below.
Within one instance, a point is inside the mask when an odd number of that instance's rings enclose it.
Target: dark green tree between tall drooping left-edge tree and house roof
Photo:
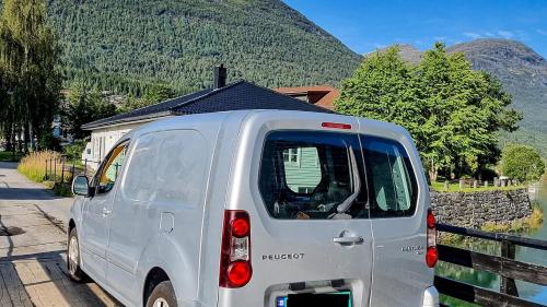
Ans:
[[[89,90],[81,82],[74,82],[62,109],[62,122],[75,140],[84,139],[90,132],[81,126],[97,119],[114,116],[116,106],[108,103],[96,90]]]

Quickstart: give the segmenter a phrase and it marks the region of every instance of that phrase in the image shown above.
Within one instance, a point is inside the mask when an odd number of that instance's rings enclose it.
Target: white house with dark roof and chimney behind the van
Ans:
[[[214,70],[214,86],[151,105],[129,113],[115,115],[82,126],[91,131],[91,142],[82,153],[88,165],[96,167],[109,152],[112,146],[131,129],[173,116],[228,111],[238,109],[286,109],[331,113],[330,110],[309,104],[301,99],[240,81],[225,85],[225,69],[221,66]]]

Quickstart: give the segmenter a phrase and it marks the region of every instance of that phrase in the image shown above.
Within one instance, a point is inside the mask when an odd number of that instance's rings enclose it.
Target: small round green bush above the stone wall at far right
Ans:
[[[545,163],[536,149],[509,144],[501,155],[501,173],[524,182],[537,181],[545,173]]]

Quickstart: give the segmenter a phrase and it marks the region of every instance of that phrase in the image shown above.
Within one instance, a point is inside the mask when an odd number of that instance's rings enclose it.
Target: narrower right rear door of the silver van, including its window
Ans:
[[[423,291],[432,285],[426,265],[429,196],[422,194],[429,190],[420,186],[421,165],[408,139],[365,134],[361,143],[374,237],[371,306],[421,306]]]

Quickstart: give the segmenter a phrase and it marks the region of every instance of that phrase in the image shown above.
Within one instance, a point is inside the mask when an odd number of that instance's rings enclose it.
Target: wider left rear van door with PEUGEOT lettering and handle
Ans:
[[[357,120],[291,122],[300,129],[243,130],[226,209],[251,217],[253,275],[243,287],[221,287],[219,306],[305,306],[319,297],[369,306],[372,231]]]

